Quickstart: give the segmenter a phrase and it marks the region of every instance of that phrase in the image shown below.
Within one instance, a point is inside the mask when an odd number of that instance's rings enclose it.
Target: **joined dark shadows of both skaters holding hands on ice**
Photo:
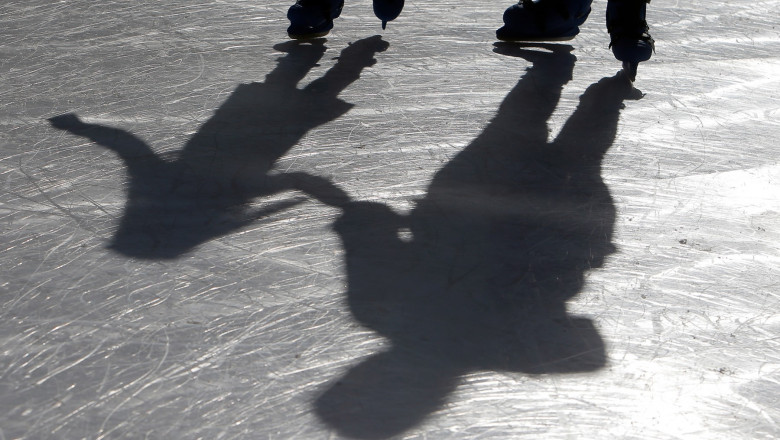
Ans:
[[[324,55],[324,41],[289,42],[263,83],[239,86],[175,157],[134,135],[75,115],[52,125],[110,148],[127,165],[128,202],[111,247],[140,258],[176,258],[298,199],[247,204],[300,190],[342,209],[347,300],[389,347],[351,368],[314,402],[341,435],[388,438],[441,409],[475,371],[527,374],[604,366],[593,323],[570,316],[584,273],[614,252],[615,209],[600,166],[622,103],[636,91],[620,76],[590,86],[561,133],[547,120],[571,79],[570,46],[498,45],[532,67],[496,117],[434,177],[409,215],[355,202],[327,179],[273,174],[309,130],[346,113],[338,94],[355,81],[379,37],[342,51],[325,76],[297,84]]]

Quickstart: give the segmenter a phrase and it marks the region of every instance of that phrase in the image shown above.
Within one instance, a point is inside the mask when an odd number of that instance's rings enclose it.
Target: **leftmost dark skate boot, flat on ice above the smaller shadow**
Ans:
[[[297,0],[287,10],[287,35],[296,40],[319,38],[333,29],[333,19],[341,15],[344,0]]]

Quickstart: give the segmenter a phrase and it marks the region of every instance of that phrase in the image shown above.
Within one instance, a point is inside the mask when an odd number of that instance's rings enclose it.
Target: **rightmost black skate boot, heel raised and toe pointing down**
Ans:
[[[607,3],[607,31],[609,47],[633,82],[637,66],[655,52],[655,41],[645,19],[650,0],[609,0]]]

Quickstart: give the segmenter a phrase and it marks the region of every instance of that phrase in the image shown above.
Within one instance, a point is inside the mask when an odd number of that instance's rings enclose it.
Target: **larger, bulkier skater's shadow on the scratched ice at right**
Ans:
[[[321,198],[343,209],[335,229],[351,312],[390,342],[316,400],[340,434],[402,433],[441,408],[470,372],[604,366],[598,331],[568,315],[566,301],[584,272],[614,252],[615,209],[600,165],[631,92],[620,76],[590,86],[548,141],[546,122],[575,58],[570,46],[545,48],[497,46],[533,67],[408,216]]]

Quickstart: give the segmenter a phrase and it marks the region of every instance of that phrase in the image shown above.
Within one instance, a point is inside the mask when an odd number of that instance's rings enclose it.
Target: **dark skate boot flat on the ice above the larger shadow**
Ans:
[[[592,0],[520,0],[504,11],[502,41],[566,41],[580,32]]]

